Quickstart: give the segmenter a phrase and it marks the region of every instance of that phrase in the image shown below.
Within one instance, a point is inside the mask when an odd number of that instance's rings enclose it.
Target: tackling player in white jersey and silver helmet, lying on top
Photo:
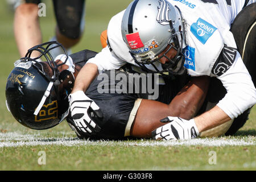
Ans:
[[[191,139],[236,118],[256,103],[253,81],[229,31],[243,5],[241,1],[207,0],[131,2],[110,20],[109,47],[81,69],[71,94],[73,100],[79,100],[77,91],[85,92],[98,72],[126,63],[161,75],[181,75],[186,69],[194,77],[217,77],[228,93],[213,109],[189,121],[164,119],[172,122],[154,131],[154,138]]]

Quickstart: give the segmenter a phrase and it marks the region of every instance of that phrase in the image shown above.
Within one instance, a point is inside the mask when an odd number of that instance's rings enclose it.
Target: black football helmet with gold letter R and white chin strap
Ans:
[[[64,63],[55,63],[49,53],[57,47],[63,48]],[[34,51],[40,55],[31,58]],[[28,49],[26,56],[14,63],[15,68],[7,78],[6,105],[19,123],[43,130],[67,117],[68,94],[75,78],[68,70],[58,70],[67,60],[68,54],[60,43],[47,42]]]

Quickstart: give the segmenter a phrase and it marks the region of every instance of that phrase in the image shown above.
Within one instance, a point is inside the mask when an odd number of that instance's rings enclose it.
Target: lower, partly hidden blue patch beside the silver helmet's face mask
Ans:
[[[185,63],[184,67],[196,71],[195,65],[195,48],[187,46],[184,49]]]

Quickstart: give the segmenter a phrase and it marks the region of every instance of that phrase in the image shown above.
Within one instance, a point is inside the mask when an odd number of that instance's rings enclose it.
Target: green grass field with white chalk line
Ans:
[[[52,2],[46,17],[40,18],[43,41],[54,34]],[[72,51],[100,51],[100,34],[109,19],[131,1],[86,1],[86,26],[82,40]],[[154,140],[98,141],[79,140],[67,123],[49,130],[23,127],[7,111],[7,76],[19,59],[13,34],[13,12],[0,2],[0,170],[255,170],[256,107],[249,121],[233,137],[195,139],[184,142]],[[40,151],[46,164],[40,165]],[[215,152],[216,160],[211,163]]]

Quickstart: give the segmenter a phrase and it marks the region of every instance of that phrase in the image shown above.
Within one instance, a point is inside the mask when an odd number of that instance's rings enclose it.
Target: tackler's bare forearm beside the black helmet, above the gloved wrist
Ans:
[[[87,63],[82,67],[81,71],[76,77],[75,85],[72,93],[82,90],[85,92],[89,87],[90,83],[98,75],[98,67],[96,64]]]

